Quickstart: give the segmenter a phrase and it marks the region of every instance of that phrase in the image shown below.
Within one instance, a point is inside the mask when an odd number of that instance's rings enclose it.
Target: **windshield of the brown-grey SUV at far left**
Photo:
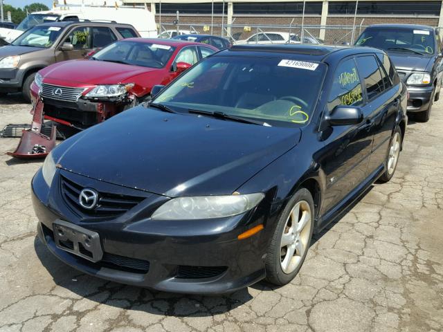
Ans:
[[[60,26],[35,26],[19,35],[11,45],[48,48],[62,32]]]

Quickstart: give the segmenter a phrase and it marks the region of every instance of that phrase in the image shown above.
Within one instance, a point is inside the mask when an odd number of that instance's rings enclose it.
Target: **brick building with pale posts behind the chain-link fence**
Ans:
[[[234,24],[239,26],[326,26],[314,29],[316,37],[328,39],[335,33],[334,26],[353,26],[356,1],[306,0],[123,0],[125,5],[147,6],[156,15],[163,28],[174,28],[172,22],[179,11],[180,27],[192,24]],[[372,0],[358,1],[355,15],[356,26],[379,23],[411,23],[428,26],[443,26],[443,1],[428,0]],[[233,28],[234,29],[234,28]],[[329,29],[329,30],[328,30]],[[201,30],[201,28],[200,28]],[[266,30],[270,30],[267,28]],[[272,29],[271,29],[272,30]],[[201,31],[199,31],[201,32]],[[230,33],[231,30],[229,30]],[[252,31],[251,33],[253,33]],[[221,33],[219,28],[214,34]],[[249,35],[251,35],[249,33]],[[359,31],[357,30],[357,33]],[[246,33],[247,37],[248,33]],[[242,38],[245,37],[245,33]],[[325,38],[326,37],[326,38]],[[331,38],[329,38],[331,39]]]

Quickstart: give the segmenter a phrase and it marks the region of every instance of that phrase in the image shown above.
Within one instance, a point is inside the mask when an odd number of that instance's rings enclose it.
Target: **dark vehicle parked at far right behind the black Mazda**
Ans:
[[[416,120],[429,120],[442,83],[442,45],[437,30],[415,24],[369,26],[356,46],[381,48],[388,52],[397,73],[408,86],[408,112]]]

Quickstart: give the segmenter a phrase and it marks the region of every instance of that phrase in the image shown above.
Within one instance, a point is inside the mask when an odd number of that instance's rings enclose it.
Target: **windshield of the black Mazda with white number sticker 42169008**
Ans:
[[[309,121],[325,71],[325,64],[287,57],[209,57],[153,102],[175,111],[222,112],[271,125],[300,125]]]

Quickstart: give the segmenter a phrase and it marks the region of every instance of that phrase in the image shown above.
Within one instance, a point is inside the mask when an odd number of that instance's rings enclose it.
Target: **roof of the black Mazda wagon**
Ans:
[[[326,46],[307,44],[255,44],[234,45],[228,50],[222,50],[218,55],[232,55],[233,52],[242,55],[266,55],[266,57],[278,57],[283,54],[299,55],[300,60],[310,59],[325,62],[329,57],[337,56],[339,59],[348,55],[361,53],[383,53],[383,50],[372,47],[350,47],[350,46]]]

